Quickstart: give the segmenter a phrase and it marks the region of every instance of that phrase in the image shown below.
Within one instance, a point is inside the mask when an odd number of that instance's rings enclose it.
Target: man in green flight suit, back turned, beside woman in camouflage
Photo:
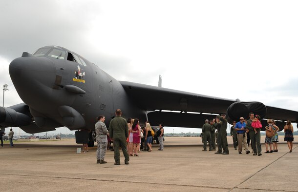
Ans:
[[[121,117],[121,110],[116,110],[116,117],[113,118],[108,127],[110,139],[113,141],[114,147],[114,165],[120,165],[120,152],[119,147],[121,146],[123,155],[125,157],[125,164],[129,164],[128,151],[126,149],[126,138],[128,137],[128,124],[125,118]]]

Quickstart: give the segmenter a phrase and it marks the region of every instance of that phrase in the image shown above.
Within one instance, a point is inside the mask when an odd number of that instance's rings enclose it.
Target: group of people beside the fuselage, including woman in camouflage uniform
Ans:
[[[129,164],[129,156],[139,156],[138,153],[141,149],[143,149],[142,151],[151,152],[152,140],[155,134],[157,135],[160,146],[158,150],[164,150],[164,128],[162,124],[159,125],[160,129],[155,133],[149,122],[146,122],[146,127],[141,128],[139,119],[128,118],[126,120],[121,117],[122,112],[120,109],[116,110],[115,115],[116,116],[111,120],[108,129],[104,123],[104,115],[99,115],[98,122],[95,124],[97,142],[96,163],[107,163],[105,161],[105,154],[108,147],[108,137],[110,141],[113,142],[114,165],[121,165],[120,148],[125,157],[124,163],[126,165]]]

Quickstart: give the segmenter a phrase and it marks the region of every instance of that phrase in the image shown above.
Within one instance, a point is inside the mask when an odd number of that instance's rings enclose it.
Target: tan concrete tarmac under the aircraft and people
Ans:
[[[238,154],[228,137],[229,155],[203,152],[200,137],[166,137],[164,151],[131,156],[129,165],[96,164],[96,147],[77,154],[74,140],[5,143],[0,148],[1,192],[21,191],[282,191],[298,192],[298,137],[288,153],[283,136],[278,152]],[[264,136],[261,141],[264,142]]]

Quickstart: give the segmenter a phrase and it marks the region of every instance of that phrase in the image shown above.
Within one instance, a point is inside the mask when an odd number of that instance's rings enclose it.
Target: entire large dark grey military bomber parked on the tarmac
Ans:
[[[230,123],[249,112],[259,114],[262,123],[277,119],[298,121],[298,112],[265,106],[260,102],[241,102],[204,96],[158,86],[118,81],[94,63],[59,46],[45,46],[33,54],[24,52],[9,65],[12,82],[24,103],[0,107],[0,126],[20,127],[26,133],[94,129],[96,117],[106,116],[106,124],[121,109],[123,117],[149,120],[153,126],[201,128],[205,119],[227,113]],[[89,134],[90,136],[90,134]],[[82,134],[76,134],[78,140]],[[91,140],[91,139],[90,139]],[[90,143],[92,146],[94,142]]]

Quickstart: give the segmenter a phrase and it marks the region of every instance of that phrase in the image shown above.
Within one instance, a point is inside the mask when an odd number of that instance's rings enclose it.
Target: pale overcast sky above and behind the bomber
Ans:
[[[296,0],[1,0],[4,106],[22,102],[9,63],[58,45],[118,80],[157,86],[161,75],[166,88],[298,111],[297,10]]]

